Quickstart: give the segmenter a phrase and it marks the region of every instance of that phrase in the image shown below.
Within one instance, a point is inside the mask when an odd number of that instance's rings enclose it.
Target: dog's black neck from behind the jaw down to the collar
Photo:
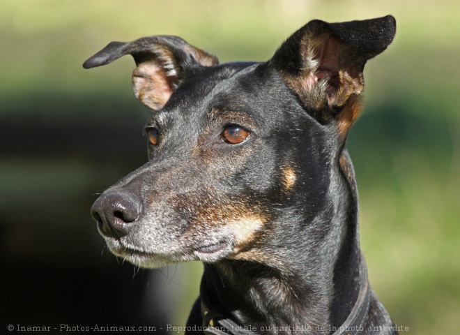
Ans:
[[[344,176],[348,179],[341,173],[342,181]],[[355,193],[354,184],[348,180],[342,186],[346,184],[348,194]],[[278,260],[279,255],[284,257],[281,267],[241,260],[206,265],[201,282],[204,306],[238,325],[256,327],[259,334],[273,333],[273,329],[279,334],[324,334],[329,331],[321,327],[340,327],[353,309],[360,285],[356,280],[360,272],[357,198],[353,194],[340,201],[336,205],[346,208],[336,206],[324,237],[299,239],[295,245],[284,246],[284,251],[275,250],[282,244],[273,247]],[[331,217],[330,211],[316,218],[316,226],[325,225],[326,217]],[[315,224],[309,226],[312,231],[305,236],[319,232]]]

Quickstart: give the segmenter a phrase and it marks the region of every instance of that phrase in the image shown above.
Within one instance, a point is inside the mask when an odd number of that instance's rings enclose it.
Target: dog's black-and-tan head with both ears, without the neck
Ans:
[[[266,63],[218,64],[174,36],[113,42],[91,57],[85,68],[131,54],[135,95],[153,110],[148,163],[93,205],[110,250],[142,267],[282,261],[277,248],[296,248],[310,223],[336,215],[362,70],[394,32],[391,16],[314,20]]]

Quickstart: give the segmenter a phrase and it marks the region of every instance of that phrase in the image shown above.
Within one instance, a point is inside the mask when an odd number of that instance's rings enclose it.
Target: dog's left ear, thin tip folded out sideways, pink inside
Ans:
[[[94,68],[130,54],[137,68],[132,71],[136,97],[152,110],[160,110],[182,80],[199,66],[219,64],[216,57],[177,36],[150,36],[132,42],[112,42],[84,62]]]

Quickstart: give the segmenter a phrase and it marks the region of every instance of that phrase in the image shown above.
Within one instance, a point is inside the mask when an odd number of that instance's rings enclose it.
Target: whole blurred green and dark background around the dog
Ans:
[[[83,70],[87,57],[171,34],[221,62],[264,61],[309,20],[387,14],[397,36],[367,64],[348,140],[362,248],[398,325],[457,334],[460,3],[450,0],[1,1],[0,327],[184,325],[198,294],[201,265],[136,269],[95,229],[97,193],[146,161],[148,111],[130,88],[132,59]]]

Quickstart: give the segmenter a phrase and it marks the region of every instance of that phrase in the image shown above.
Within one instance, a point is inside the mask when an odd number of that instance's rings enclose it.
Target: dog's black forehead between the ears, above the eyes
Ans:
[[[267,90],[273,91],[273,78],[267,78],[270,76],[267,72],[259,63],[229,63],[202,68],[174,91],[153,119],[162,124],[179,120],[197,123],[199,119],[215,116],[216,112],[238,112],[265,120],[267,108],[264,105],[275,107],[273,99],[280,100],[267,94]]]

